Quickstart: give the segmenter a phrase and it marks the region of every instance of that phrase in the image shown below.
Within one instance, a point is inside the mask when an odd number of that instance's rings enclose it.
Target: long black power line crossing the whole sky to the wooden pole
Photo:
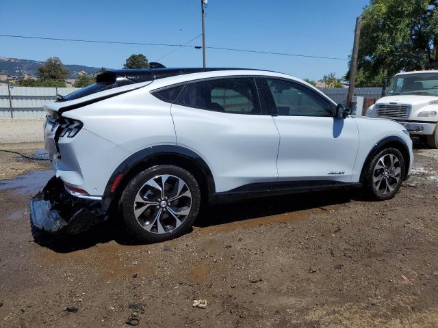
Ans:
[[[38,40],[52,40],[52,41],[69,41],[69,42],[90,42],[90,43],[109,43],[109,44],[136,44],[140,46],[178,46],[178,47],[186,47],[195,49],[201,48],[200,46],[190,46],[190,42],[186,44],[168,44],[168,43],[146,43],[146,42],[125,42],[125,41],[104,41],[104,40],[82,40],[82,39],[65,39],[65,38],[43,38],[40,36],[13,36],[7,34],[0,34],[0,37],[4,38],[24,38],[24,39],[38,39]],[[197,36],[196,38],[198,38]],[[196,39],[195,38],[195,39]],[[306,57],[306,58],[315,58],[315,59],[335,59],[335,60],[348,60],[348,58],[340,58],[340,57],[326,57],[326,56],[317,56],[317,55],[300,55],[296,53],[276,53],[272,51],[257,51],[257,50],[248,50],[248,49],[233,49],[226,48],[221,46],[206,46],[207,49],[215,49],[215,50],[224,50],[224,51],[237,51],[241,53],[261,53],[264,55],[281,55],[281,56],[289,56],[289,57]]]

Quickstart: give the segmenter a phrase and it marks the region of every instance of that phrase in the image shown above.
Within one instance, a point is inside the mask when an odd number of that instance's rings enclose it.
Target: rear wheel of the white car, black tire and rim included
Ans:
[[[200,204],[198,182],[174,165],[156,165],[140,172],[129,181],[120,198],[127,230],[146,243],[184,234],[196,219]]]

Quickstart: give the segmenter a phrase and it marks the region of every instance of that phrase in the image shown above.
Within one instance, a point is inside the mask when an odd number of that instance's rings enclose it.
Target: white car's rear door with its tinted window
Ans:
[[[253,77],[189,82],[171,113],[177,144],[203,157],[217,192],[276,181],[279,132],[261,109]]]

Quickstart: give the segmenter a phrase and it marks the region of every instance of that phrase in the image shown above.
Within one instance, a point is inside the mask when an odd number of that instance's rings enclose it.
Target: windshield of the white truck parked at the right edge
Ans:
[[[397,94],[438,96],[438,72],[403,74],[394,77],[386,95],[394,96]]]

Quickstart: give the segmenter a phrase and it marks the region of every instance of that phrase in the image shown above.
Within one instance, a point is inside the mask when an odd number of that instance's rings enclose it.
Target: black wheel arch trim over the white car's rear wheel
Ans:
[[[118,165],[118,167],[113,172],[110,179],[108,180],[107,185],[105,187],[105,191],[103,193],[103,197],[110,199],[114,197],[115,193],[114,191],[111,190],[112,185],[114,184],[116,178],[120,176],[120,174],[122,174],[123,177],[127,176],[129,171],[133,169],[133,167],[136,167],[141,163],[146,163],[147,161],[153,159],[153,157],[155,156],[179,156],[185,160],[190,161],[192,164],[196,165],[196,167],[201,169],[201,174],[203,174],[207,182],[208,195],[214,195],[214,193],[216,193],[216,185],[214,183],[214,177],[213,174],[211,173],[211,169],[209,168],[209,165],[205,163],[204,159],[201,156],[199,156],[199,154],[196,154],[196,152],[194,152],[193,150],[190,150],[183,146],[157,145],[157,146],[144,148],[134,154],[131,154],[131,156],[125,159],[125,161],[120,163],[120,165]],[[120,182],[121,181],[123,181],[123,178],[120,180]],[[118,186],[120,185],[120,182],[118,182],[117,184]]]

